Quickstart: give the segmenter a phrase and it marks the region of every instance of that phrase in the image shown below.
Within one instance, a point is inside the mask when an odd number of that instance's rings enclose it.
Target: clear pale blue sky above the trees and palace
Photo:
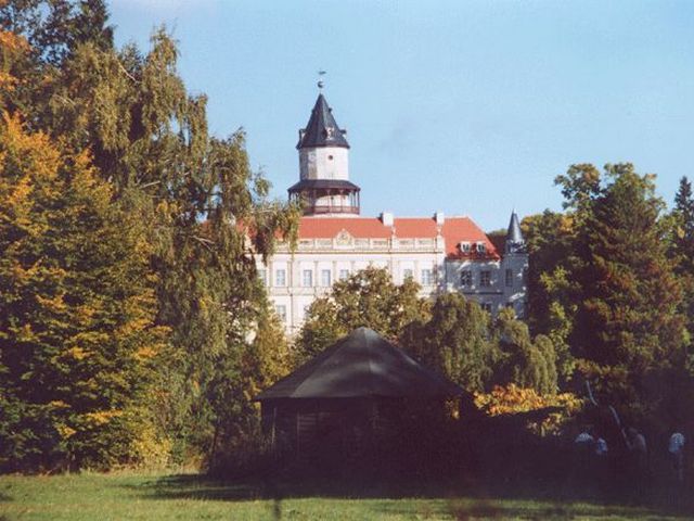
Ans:
[[[286,199],[318,96],[346,128],[361,214],[558,211],[575,163],[631,162],[671,204],[694,177],[692,1],[112,0],[118,45],[165,24],[210,130],[247,135]]]

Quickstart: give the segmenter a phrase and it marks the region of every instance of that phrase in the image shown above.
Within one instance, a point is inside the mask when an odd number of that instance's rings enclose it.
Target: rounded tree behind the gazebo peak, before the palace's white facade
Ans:
[[[362,326],[397,342],[406,326],[427,316],[427,303],[419,298],[419,291],[412,279],[396,285],[387,270],[374,267],[335,282],[308,309],[296,342],[298,358],[314,356]]]

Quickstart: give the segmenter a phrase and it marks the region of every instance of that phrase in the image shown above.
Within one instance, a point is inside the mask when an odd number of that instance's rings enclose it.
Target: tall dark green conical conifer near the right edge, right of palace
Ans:
[[[652,176],[607,165],[607,185],[580,231],[584,265],[574,341],[592,360],[634,371],[678,365],[683,355],[681,291],[666,256],[664,207]]]

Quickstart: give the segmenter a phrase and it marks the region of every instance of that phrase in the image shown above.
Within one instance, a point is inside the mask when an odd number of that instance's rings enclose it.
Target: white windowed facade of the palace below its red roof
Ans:
[[[258,269],[265,274],[268,294],[290,334],[298,332],[317,296],[336,280],[369,266],[387,269],[398,284],[412,277],[422,285],[421,296],[458,291],[492,314],[512,306],[517,316],[524,316],[527,255],[451,258],[447,252],[441,236],[364,239],[342,230],[332,239],[300,239],[294,252],[281,245],[267,266],[259,263]]]

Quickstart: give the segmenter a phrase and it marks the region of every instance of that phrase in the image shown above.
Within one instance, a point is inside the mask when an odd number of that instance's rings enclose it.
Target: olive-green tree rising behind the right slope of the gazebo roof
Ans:
[[[481,392],[492,377],[497,350],[489,315],[460,293],[439,295],[430,319],[412,322],[401,339],[415,358],[470,392]]]

